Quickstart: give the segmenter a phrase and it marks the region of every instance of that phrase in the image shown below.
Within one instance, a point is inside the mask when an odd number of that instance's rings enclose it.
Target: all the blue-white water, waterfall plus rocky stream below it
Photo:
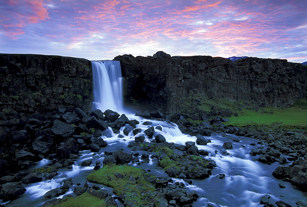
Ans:
[[[94,94],[95,103],[93,109],[105,109],[115,110],[121,113],[125,112],[122,102],[122,86],[120,65],[118,61],[93,61],[93,75],[94,75]],[[98,76],[98,77],[96,77]],[[106,83],[107,82],[107,83]],[[120,99],[120,100],[119,100]],[[196,141],[195,136],[189,136],[182,134],[177,125],[166,122],[147,120],[142,117],[136,117],[133,114],[126,113],[126,116],[130,119],[137,119],[140,124],[136,128],[141,128],[146,138],[145,141],[150,139],[145,135],[144,131],[149,128],[148,125],[142,125],[144,121],[151,121],[152,126],[161,126],[162,131],[155,129],[155,135],[157,133],[162,134],[167,142],[174,142],[177,144],[185,145],[186,141]],[[42,182],[32,183],[24,185],[27,189],[25,194],[11,202],[7,203],[7,206],[40,206],[45,201],[51,199],[45,199],[44,194],[56,187],[63,185],[62,180],[65,178],[72,178],[74,185],[66,192],[67,194],[74,194],[73,189],[77,186],[77,183],[81,185],[86,181],[86,176],[93,172],[96,161],[102,163],[104,159],[104,151],[115,151],[116,149],[123,148],[126,151],[131,151],[128,148],[130,142],[134,142],[134,136],[132,131],[128,136],[123,134],[124,127],[121,128],[120,134],[124,137],[119,138],[118,134],[110,132],[108,136],[102,136],[103,140],[107,142],[107,146],[100,149],[99,152],[80,151],[78,160],[72,165],[72,169],[66,167],[60,168],[58,175],[51,180],[44,180]],[[136,135],[139,136],[140,134]],[[155,136],[154,135],[154,136]],[[267,165],[258,162],[257,156],[250,155],[252,148],[258,148],[261,144],[258,144],[258,140],[238,137],[230,134],[212,134],[212,136],[206,137],[211,140],[207,145],[197,145],[198,149],[204,149],[209,152],[208,156],[204,156],[206,159],[213,159],[216,161],[216,167],[212,171],[212,175],[209,178],[197,180],[193,179],[192,184],[189,185],[183,179],[173,178],[174,182],[183,182],[186,185],[187,191],[196,190],[200,196],[196,202],[193,202],[193,206],[206,206],[211,204],[213,206],[262,206],[259,201],[265,194],[271,196],[270,201],[275,203],[282,200],[292,206],[296,206],[295,202],[301,199],[307,200],[307,193],[297,190],[289,182],[283,182],[272,176],[272,172],[279,163],[275,162],[272,165]],[[240,142],[233,142],[233,139],[239,139]],[[222,145],[224,142],[231,141],[233,149],[225,150]],[[251,145],[255,144],[255,145]],[[266,145],[262,145],[265,148]],[[146,151],[139,151],[142,155]],[[150,152],[147,152],[150,153]],[[229,154],[227,154],[229,153]],[[141,156],[139,156],[139,159]],[[89,167],[81,167],[80,164],[87,159],[92,159],[92,165]],[[33,170],[36,167],[47,166],[51,161],[43,159],[33,166]],[[290,165],[291,163],[286,163]],[[140,167],[146,170],[150,170],[150,173],[156,176],[167,175],[157,162],[150,162],[146,164],[136,165],[130,163],[131,166]],[[225,174],[223,179],[219,178],[219,174]],[[278,183],[283,183],[286,188],[280,188]],[[95,183],[88,183],[89,186]],[[98,184],[95,184],[98,185]],[[101,185],[98,185],[103,187]],[[112,189],[103,187],[112,194]],[[61,195],[57,198],[62,198]],[[52,198],[53,199],[53,198]],[[123,206],[118,201],[119,206]]]

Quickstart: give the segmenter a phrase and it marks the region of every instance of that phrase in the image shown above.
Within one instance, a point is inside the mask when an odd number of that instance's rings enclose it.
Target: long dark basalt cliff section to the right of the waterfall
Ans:
[[[211,56],[117,56],[125,78],[126,100],[135,99],[169,113],[182,99],[207,95],[259,106],[289,107],[307,96],[307,67],[285,59],[249,57],[232,62]]]

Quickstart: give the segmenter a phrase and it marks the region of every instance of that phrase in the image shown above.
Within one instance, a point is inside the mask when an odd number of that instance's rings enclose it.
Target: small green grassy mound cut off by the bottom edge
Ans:
[[[68,197],[64,200],[62,200],[62,202],[60,204],[57,205],[53,205],[56,207],[60,207],[60,206],[84,206],[84,207],[103,207],[103,206],[107,206],[106,202],[98,197],[95,196],[91,196],[88,193],[84,193],[78,197]]]

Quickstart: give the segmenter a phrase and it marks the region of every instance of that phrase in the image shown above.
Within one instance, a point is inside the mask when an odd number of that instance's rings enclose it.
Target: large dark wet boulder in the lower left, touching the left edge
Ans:
[[[14,200],[24,194],[26,189],[21,185],[6,183],[0,186],[0,199],[3,201]]]

